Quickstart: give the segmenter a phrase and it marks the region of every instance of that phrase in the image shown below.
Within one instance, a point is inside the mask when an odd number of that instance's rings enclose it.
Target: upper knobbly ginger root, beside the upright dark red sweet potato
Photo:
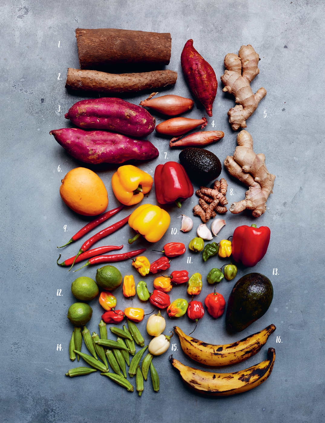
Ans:
[[[238,57],[239,56],[239,57]],[[221,76],[221,81],[225,86],[222,91],[228,91],[235,96],[237,105],[228,111],[229,123],[234,131],[239,127],[247,128],[248,119],[256,110],[259,102],[266,96],[266,90],[259,88],[253,94],[250,83],[259,74],[259,55],[248,44],[240,47],[238,56],[228,53],[224,59],[225,72]]]

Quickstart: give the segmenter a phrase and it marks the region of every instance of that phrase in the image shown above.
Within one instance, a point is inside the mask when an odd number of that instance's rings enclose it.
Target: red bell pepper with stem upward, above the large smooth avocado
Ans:
[[[232,238],[232,256],[246,267],[255,266],[264,257],[270,242],[271,231],[267,226],[238,226]]]

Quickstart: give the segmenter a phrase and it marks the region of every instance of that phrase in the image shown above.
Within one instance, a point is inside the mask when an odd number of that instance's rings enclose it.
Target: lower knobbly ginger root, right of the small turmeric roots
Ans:
[[[231,176],[247,185],[249,190],[245,192],[245,200],[232,203],[229,210],[237,214],[249,209],[254,217],[259,217],[266,210],[267,198],[273,192],[275,175],[267,171],[264,154],[254,153],[251,134],[240,131],[237,144],[234,156],[227,156],[224,165]]]

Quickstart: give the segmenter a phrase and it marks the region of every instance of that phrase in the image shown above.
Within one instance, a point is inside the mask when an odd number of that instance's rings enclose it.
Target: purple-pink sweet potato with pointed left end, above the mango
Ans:
[[[106,131],[79,128],[55,129],[50,132],[72,157],[85,163],[123,163],[130,159],[150,160],[159,155],[147,140],[136,140]]]

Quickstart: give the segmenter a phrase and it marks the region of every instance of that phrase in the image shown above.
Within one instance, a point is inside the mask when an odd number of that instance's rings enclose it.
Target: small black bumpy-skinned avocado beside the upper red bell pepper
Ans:
[[[221,173],[221,163],[218,157],[204,148],[184,148],[179,153],[179,161],[190,179],[199,183],[212,181]]]

